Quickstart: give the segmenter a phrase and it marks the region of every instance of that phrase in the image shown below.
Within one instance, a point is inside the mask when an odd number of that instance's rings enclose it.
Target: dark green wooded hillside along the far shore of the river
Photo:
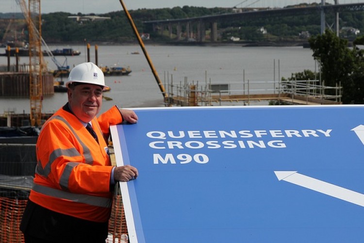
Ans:
[[[302,5],[302,4],[301,4]],[[303,4],[305,5],[305,4]],[[306,4],[308,5],[308,4]],[[287,6],[292,7],[292,6]],[[232,12],[232,8],[203,8],[203,7],[174,7],[162,9],[138,9],[131,10],[130,14],[139,33],[149,33],[150,41],[153,42],[173,42],[174,39],[154,33],[151,26],[143,24],[143,21],[175,19],[186,17],[199,17],[205,15],[216,15]],[[6,34],[6,24],[4,18],[18,17],[19,13],[0,13],[0,40]],[[128,43],[136,42],[132,27],[124,11],[115,11],[107,14],[98,15],[100,17],[110,17],[103,21],[83,21],[77,22],[68,16],[83,16],[81,13],[55,12],[42,15],[42,36],[47,43],[83,43],[86,39],[93,43]],[[87,14],[95,15],[95,14]],[[8,20],[7,19],[7,20]],[[333,14],[327,14],[328,23],[334,22]],[[340,13],[340,27],[352,27],[358,29],[362,35],[364,33],[364,12],[352,11]],[[27,26],[25,22],[16,22],[17,26],[10,31],[22,33],[27,38]],[[263,27],[267,34],[258,31]],[[302,40],[306,36],[300,35],[308,32],[310,35],[320,34],[320,15],[296,15],[268,18],[254,18],[244,21],[228,21],[218,23],[219,41],[230,41],[232,36],[240,38],[241,41],[295,41]],[[341,37],[354,39],[355,35],[349,31],[341,31]],[[208,39],[208,38],[207,38]]]

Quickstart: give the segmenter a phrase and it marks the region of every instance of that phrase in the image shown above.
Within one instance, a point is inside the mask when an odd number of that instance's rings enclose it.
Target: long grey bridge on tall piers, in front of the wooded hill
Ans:
[[[275,8],[275,9],[252,9],[244,11],[244,9],[238,10],[234,13],[209,15],[201,17],[179,18],[179,19],[166,19],[166,20],[152,20],[144,21],[146,25],[152,25],[153,31],[160,31],[163,33],[165,29],[168,29],[169,36],[172,38],[173,29],[177,30],[177,40],[182,39],[182,26],[185,26],[185,32],[187,39],[192,38],[194,26],[197,26],[196,41],[204,42],[206,29],[211,29],[211,41],[217,41],[217,23],[221,21],[233,21],[244,20],[258,17],[274,17],[274,16],[293,16],[317,13],[321,15],[321,34],[324,33],[326,28],[325,16],[327,13],[335,13],[335,32],[339,33],[339,13],[349,11],[363,11],[363,3],[347,3],[347,4],[334,4],[326,5],[325,0],[321,0],[320,5],[306,6],[306,7],[287,7],[287,8]],[[335,0],[337,2],[337,0]],[[239,11],[240,10],[240,11]],[[176,28],[173,28],[176,27]]]

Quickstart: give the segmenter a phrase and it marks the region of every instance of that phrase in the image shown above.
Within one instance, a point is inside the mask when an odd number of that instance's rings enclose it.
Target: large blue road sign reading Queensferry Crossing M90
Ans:
[[[364,106],[138,108],[111,129],[130,242],[360,242]]]

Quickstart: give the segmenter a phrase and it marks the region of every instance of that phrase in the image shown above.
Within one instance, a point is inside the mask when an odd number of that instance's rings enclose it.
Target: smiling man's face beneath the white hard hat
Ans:
[[[98,85],[77,85],[68,89],[68,103],[72,112],[83,122],[91,121],[101,109],[102,88]]]

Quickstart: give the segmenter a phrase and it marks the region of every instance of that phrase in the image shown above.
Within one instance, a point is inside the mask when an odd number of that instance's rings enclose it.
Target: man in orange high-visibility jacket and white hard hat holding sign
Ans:
[[[132,166],[111,166],[110,125],[138,117],[114,106],[96,118],[107,87],[102,71],[91,62],[79,64],[66,86],[68,103],[37,140],[34,184],[20,225],[26,243],[105,243],[114,184],[138,176]]]

